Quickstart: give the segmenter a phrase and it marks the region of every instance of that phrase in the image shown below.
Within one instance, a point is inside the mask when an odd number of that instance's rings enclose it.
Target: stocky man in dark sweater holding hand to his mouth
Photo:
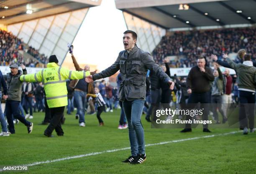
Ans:
[[[198,102],[203,108],[203,120],[208,120],[209,104],[210,103],[210,89],[211,82],[214,80],[212,69],[206,67],[204,57],[197,59],[197,66],[192,67],[187,76],[187,92],[190,94],[188,100],[188,107],[194,109]],[[190,115],[187,115],[187,120],[190,120]],[[186,127],[181,131],[191,132],[191,124],[186,123]],[[203,125],[203,132],[210,132],[208,124]]]

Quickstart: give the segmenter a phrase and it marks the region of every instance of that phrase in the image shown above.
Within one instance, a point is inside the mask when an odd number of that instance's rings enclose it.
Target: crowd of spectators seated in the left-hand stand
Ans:
[[[26,51],[43,64],[47,63],[47,57],[39,54],[38,50],[31,46],[26,49],[22,39],[17,38],[12,33],[0,29],[0,65],[8,66],[10,64],[25,64],[27,67],[36,67],[38,61],[30,60],[25,62],[23,56],[18,53],[19,50]]]

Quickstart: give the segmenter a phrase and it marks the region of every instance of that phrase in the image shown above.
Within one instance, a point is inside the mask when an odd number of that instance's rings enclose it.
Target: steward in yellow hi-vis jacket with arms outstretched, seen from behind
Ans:
[[[49,57],[49,63],[46,69],[35,74],[20,76],[20,81],[43,82],[46,93],[47,104],[51,112],[51,123],[44,131],[44,135],[51,137],[53,130],[56,130],[58,136],[63,136],[61,128],[61,117],[64,108],[67,106],[67,79],[84,79],[90,75],[90,72],[70,71],[64,67],[59,67],[59,61],[55,55]]]

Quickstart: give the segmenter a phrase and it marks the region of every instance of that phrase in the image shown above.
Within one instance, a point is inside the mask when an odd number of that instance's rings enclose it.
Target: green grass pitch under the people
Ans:
[[[102,113],[105,126],[99,127],[96,115],[86,115],[86,127],[79,127],[73,115],[65,115],[64,136],[54,138],[43,135],[46,125],[38,125],[44,113],[34,113],[30,121],[33,132],[27,133],[22,123],[15,125],[16,134],[0,137],[0,168],[51,161],[129,147],[128,129],[118,130],[120,110]],[[219,135],[238,129],[201,128],[192,133],[179,133],[181,129],[153,129],[142,115],[145,143],[159,143],[208,135]],[[124,164],[130,150],[102,153],[77,159],[28,166],[28,171],[2,171],[0,173],[30,174],[248,174],[256,172],[256,133],[241,132],[166,143],[146,147],[147,159],[143,164]]]

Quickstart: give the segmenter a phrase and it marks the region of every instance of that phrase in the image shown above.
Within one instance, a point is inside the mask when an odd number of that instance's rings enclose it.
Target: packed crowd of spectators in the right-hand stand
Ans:
[[[209,63],[211,54],[236,53],[246,49],[252,59],[256,58],[256,28],[227,28],[214,30],[179,31],[166,34],[154,51],[155,61],[161,64],[166,56],[177,56],[170,61],[172,67],[193,67],[198,55]]]

